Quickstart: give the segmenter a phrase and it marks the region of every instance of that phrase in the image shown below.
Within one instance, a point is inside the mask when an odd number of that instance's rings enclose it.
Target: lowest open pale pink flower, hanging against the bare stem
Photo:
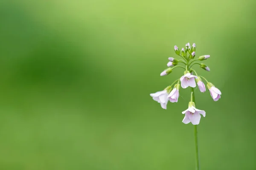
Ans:
[[[182,114],[185,114],[185,117],[182,120],[182,122],[185,124],[191,122],[193,125],[198,125],[201,119],[201,115],[205,117],[205,111],[195,108],[194,102],[189,102],[189,108],[186,111],[183,111]]]

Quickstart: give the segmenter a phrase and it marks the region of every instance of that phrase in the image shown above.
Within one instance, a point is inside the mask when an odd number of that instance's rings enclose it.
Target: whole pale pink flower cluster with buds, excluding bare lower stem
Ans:
[[[168,101],[172,103],[178,102],[180,86],[182,88],[191,87],[191,91],[192,91],[191,101],[189,102],[189,108],[186,111],[182,112],[182,114],[185,114],[185,117],[182,122],[185,124],[188,124],[189,122],[191,122],[193,125],[198,125],[201,119],[201,115],[205,117],[205,111],[201,111],[195,108],[195,101],[194,101],[195,100],[194,88],[196,87],[196,84],[198,85],[198,89],[201,92],[204,93],[206,91],[204,82],[202,81],[201,78],[203,78],[207,82],[207,88],[212,96],[212,99],[214,101],[218,101],[218,99],[221,98],[221,91],[218,90],[218,88],[215,88],[215,86],[211,82],[208,82],[207,79],[205,79],[204,77],[198,76],[196,71],[192,69],[192,66],[197,64],[204,70],[210,71],[207,65],[196,62],[196,61],[203,61],[205,59],[208,59],[210,56],[203,55],[198,57],[198,59],[194,59],[195,51],[196,51],[195,43],[193,43],[192,47],[190,46],[189,43],[187,43],[185,48],[181,49],[181,52],[179,48],[175,45],[174,51],[178,56],[182,57],[182,59],[177,60],[173,57],[169,57],[168,58],[169,62],[167,63],[168,68],[165,69],[160,74],[160,76],[166,76],[172,73],[172,70],[174,68],[183,68],[185,70],[184,75],[180,77],[180,79],[175,80],[172,83],[172,85],[169,85],[163,91],[158,91],[157,93],[150,94],[150,96],[153,97],[155,101],[160,103],[163,109],[166,109]],[[178,63],[185,64],[185,67],[177,65]]]

